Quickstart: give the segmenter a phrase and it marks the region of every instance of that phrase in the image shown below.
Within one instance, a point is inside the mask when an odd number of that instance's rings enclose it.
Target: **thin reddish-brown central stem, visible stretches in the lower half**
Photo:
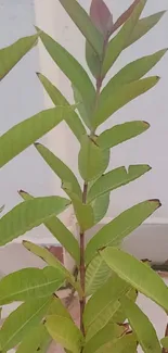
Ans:
[[[87,202],[87,192],[88,192],[88,182],[85,182],[83,185],[83,191],[82,191],[82,203]],[[83,291],[83,297],[80,299],[80,330],[82,335],[85,336],[85,327],[83,327],[83,312],[86,306],[86,265],[85,265],[85,231],[80,230],[80,285],[81,289]]]

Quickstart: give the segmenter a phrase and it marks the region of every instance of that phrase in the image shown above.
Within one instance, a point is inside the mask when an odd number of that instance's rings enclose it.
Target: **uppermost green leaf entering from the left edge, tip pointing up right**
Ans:
[[[37,39],[38,35],[21,38],[13,45],[0,50],[0,80],[36,46]]]

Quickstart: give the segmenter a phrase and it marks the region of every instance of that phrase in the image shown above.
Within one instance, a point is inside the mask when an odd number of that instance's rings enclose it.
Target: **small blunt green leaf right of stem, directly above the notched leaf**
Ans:
[[[101,149],[111,149],[146,131],[148,128],[150,124],[143,121],[124,123],[102,133],[96,142]]]

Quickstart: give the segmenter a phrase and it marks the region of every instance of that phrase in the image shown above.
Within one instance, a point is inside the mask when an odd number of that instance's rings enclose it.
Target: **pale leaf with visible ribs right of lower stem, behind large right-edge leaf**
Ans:
[[[86,270],[86,295],[92,295],[112,276],[111,268],[100,255],[96,255]]]

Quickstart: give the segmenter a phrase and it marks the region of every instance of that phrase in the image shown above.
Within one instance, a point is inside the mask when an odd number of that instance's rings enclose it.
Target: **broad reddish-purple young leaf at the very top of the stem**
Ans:
[[[106,39],[113,28],[113,15],[103,0],[92,0],[90,17],[95,27]]]

